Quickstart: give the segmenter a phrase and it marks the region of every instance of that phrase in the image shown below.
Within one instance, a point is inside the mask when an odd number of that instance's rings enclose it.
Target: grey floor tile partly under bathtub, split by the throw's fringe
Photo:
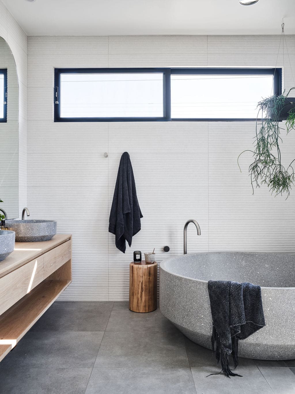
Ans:
[[[195,344],[186,337],[184,337],[184,342],[188,355],[188,361],[190,362],[191,367],[216,366],[217,361],[212,350],[203,348],[203,346]],[[239,366],[242,365],[255,366],[255,363],[252,359],[244,359],[239,357]]]

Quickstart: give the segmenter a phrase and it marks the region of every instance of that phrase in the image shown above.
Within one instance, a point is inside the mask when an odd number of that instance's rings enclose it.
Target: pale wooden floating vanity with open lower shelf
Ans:
[[[0,262],[0,361],[72,282],[72,236],[16,242]]]

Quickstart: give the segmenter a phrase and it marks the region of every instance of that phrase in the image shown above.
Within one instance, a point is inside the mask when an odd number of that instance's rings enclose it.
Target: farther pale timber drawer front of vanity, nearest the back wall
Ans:
[[[44,254],[44,278],[70,260],[71,250],[71,241],[67,241]]]

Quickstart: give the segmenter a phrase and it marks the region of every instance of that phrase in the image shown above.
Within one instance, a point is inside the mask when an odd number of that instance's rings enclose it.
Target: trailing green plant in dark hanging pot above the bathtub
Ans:
[[[267,97],[257,104],[259,110],[256,119],[255,146],[253,151],[247,150],[253,153],[254,158],[253,163],[249,166],[253,194],[254,187],[260,188],[260,185],[265,184],[271,193],[275,193],[275,195],[286,193],[288,198],[294,184],[295,174],[292,164],[295,159],[287,168],[282,165],[280,152],[282,138],[279,126],[280,116],[286,105],[290,104],[292,108],[288,111],[286,119],[287,134],[295,129],[295,103],[288,100],[292,89],[295,87],[292,87],[287,95],[284,95],[284,91],[282,95]],[[261,118],[258,118],[260,114]],[[239,158],[247,151],[243,151],[238,156],[239,168]]]

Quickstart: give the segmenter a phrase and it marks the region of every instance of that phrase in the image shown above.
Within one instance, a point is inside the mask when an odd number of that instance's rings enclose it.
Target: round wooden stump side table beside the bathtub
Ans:
[[[158,264],[130,263],[129,309],[133,312],[152,312],[157,309]]]

